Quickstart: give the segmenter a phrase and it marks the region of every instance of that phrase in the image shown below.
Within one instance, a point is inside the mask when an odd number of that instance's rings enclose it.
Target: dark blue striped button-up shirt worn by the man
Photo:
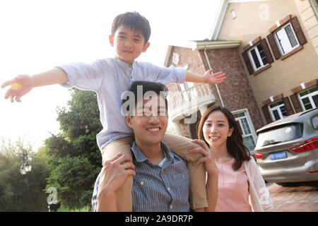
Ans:
[[[162,167],[150,162],[135,142],[131,152],[136,167],[133,182],[134,212],[187,212],[189,211],[189,172],[186,162],[171,153],[167,145],[161,142],[165,153]],[[97,208],[97,193],[100,175],[95,182],[92,206]]]

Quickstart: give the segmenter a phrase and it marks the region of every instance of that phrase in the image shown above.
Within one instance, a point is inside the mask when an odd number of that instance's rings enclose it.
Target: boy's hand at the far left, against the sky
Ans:
[[[20,75],[8,80],[1,85],[1,88],[5,88],[8,85],[11,85],[11,88],[6,91],[4,98],[10,98],[11,102],[14,102],[14,100],[21,102],[20,98],[26,93],[29,93],[34,87],[33,79],[27,75]]]

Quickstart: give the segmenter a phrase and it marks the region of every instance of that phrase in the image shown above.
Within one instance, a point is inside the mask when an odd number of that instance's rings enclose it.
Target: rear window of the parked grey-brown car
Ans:
[[[300,124],[286,124],[277,126],[259,133],[257,137],[257,145],[255,148],[261,148],[266,145],[282,143],[285,141],[293,141],[302,136]]]

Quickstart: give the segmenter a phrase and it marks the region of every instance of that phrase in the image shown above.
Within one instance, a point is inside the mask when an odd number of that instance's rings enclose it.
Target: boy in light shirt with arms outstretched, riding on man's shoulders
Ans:
[[[100,121],[103,126],[102,131],[96,136],[98,147],[102,152],[102,162],[112,159],[119,152],[131,156],[130,143],[133,139],[133,131],[126,126],[124,115],[121,113],[121,95],[129,89],[131,83],[155,81],[167,84],[189,81],[216,84],[225,79],[225,74],[222,72],[211,75],[211,71],[206,71],[204,76],[200,76],[173,66],[167,69],[135,61],[141,52],[146,52],[148,49],[150,35],[151,28],[148,20],[139,13],[119,14],[114,18],[112,35],[109,36],[116,57],[100,59],[92,64],[61,65],[33,76],[20,75],[6,81],[1,88],[11,85],[5,94],[5,98],[10,98],[11,102],[14,100],[20,102],[20,97],[42,85],[61,84],[67,88],[75,86],[81,90],[95,91],[98,96]],[[206,207],[206,189],[205,186],[201,186],[201,182],[205,181],[204,165],[193,167],[191,162],[197,160],[200,155],[189,155],[188,153],[189,149],[198,146],[181,136],[167,135],[163,141],[172,152],[189,162],[192,208]],[[119,211],[132,210],[131,190],[132,177],[128,177],[122,189],[117,191]]]

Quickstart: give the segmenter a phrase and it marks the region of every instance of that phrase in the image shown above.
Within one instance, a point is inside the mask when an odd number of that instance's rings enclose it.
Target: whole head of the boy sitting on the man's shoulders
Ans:
[[[109,38],[117,57],[127,64],[132,64],[141,52],[148,49],[150,35],[148,20],[137,12],[127,12],[114,18]]]

